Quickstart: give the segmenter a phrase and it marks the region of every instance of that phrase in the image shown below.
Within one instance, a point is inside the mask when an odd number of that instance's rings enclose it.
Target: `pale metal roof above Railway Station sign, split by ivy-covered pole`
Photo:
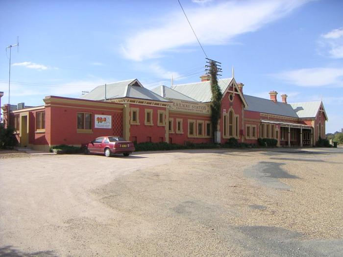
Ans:
[[[232,78],[223,78],[218,80],[218,85],[222,93],[224,93],[231,80]],[[211,101],[212,92],[210,81],[174,85],[171,89],[187,95],[199,102]]]

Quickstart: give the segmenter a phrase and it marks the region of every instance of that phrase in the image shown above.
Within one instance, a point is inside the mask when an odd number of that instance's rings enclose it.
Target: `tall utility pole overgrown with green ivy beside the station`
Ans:
[[[214,141],[215,141],[215,135],[217,132],[217,125],[221,118],[221,98],[222,98],[221,89],[218,85],[217,73],[218,73],[218,68],[216,66],[216,63],[214,61],[210,61],[209,74],[211,76],[211,92],[212,92],[211,120],[212,120],[212,133],[213,133],[212,135],[213,135]]]

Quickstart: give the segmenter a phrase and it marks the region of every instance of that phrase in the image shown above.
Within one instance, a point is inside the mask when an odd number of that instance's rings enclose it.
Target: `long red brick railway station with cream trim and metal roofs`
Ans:
[[[220,79],[223,93],[216,141],[229,138],[257,143],[273,138],[278,145],[313,145],[325,137],[322,102],[287,103],[243,94],[234,78]],[[10,122],[22,147],[48,150],[52,145],[81,145],[103,135],[136,142],[211,142],[209,77],[196,83],[146,89],[137,79],[96,87],[80,98],[47,96],[44,105],[11,110]],[[7,126],[7,107],[2,107]]]

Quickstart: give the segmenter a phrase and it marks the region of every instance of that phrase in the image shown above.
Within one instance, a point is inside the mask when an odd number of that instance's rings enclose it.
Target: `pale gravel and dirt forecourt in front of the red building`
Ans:
[[[0,256],[341,257],[343,148],[0,152]]]

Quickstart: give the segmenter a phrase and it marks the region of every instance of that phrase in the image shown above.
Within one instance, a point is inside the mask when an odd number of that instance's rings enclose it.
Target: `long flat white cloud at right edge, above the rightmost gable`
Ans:
[[[289,70],[272,76],[301,87],[343,87],[343,68]]]

